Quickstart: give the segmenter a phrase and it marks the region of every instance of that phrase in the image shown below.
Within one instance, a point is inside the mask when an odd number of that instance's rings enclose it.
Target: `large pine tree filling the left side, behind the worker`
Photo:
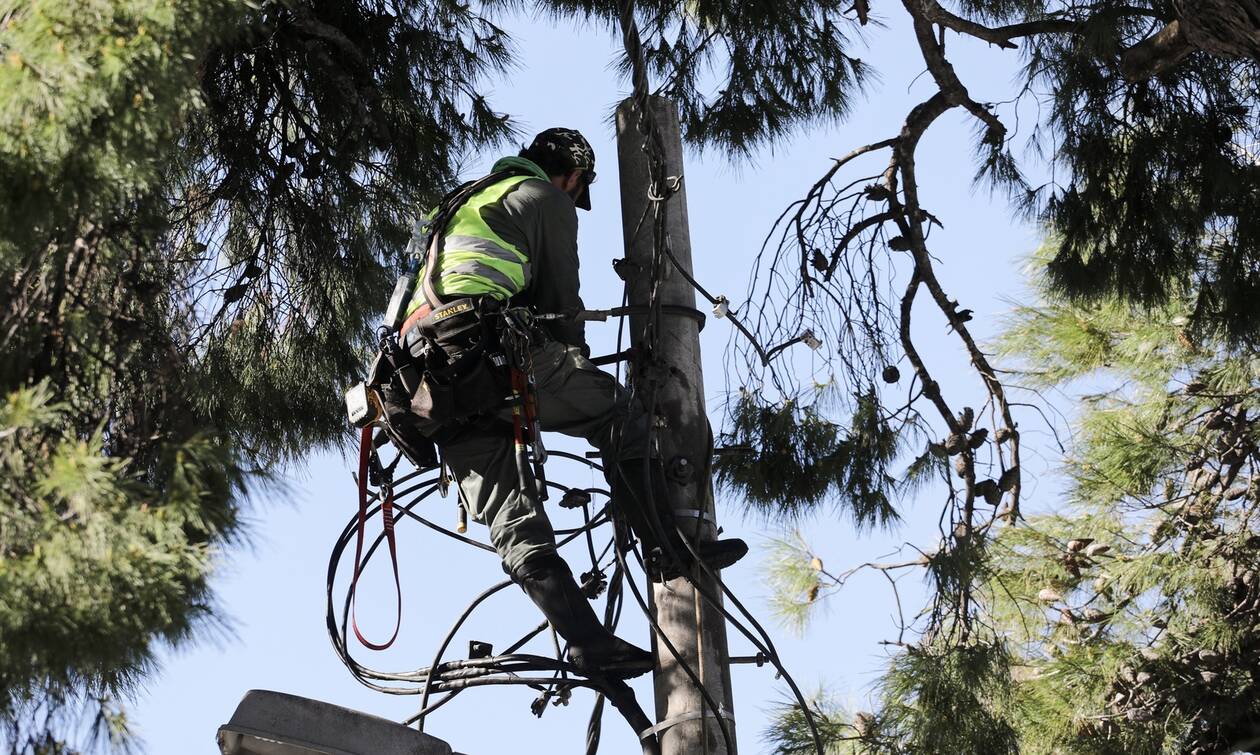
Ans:
[[[129,741],[276,465],[344,437],[411,218],[507,135],[455,3],[0,4],[0,722]]]

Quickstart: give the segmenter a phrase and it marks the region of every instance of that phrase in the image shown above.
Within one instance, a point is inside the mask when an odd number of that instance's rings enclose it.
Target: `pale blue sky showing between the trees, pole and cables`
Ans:
[[[890,6],[892,8],[892,6]],[[931,93],[930,81],[898,14],[887,19],[890,29],[871,32],[873,44],[862,57],[873,64],[882,82],[859,105],[853,117],[837,126],[816,129],[762,151],[753,164],[733,165],[718,154],[688,154],[692,248],[696,274],[714,292],[741,305],[752,258],[772,219],[793,199],[804,194],[829,159],[849,149],[896,134],[910,106]],[[515,118],[528,135],[549,126],[581,130],[593,144],[600,182],[593,187],[595,209],[581,213],[582,292],[588,306],[614,306],[620,301],[620,281],[611,261],[622,253],[620,208],[616,197],[615,141],[609,113],[626,95],[612,71],[619,40],[606,32],[578,28],[552,19],[512,16],[504,25],[517,40],[519,67],[493,86],[491,102]],[[963,79],[980,101],[1007,100],[1013,91],[1018,59],[1013,53],[987,49],[974,40],[950,39],[950,52]],[[922,74],[922,76],[921,76]],[[1026,118],[1029,113],[1026,115]],[[1026,120],[1027,124],[1027,120]],[[1027,126],[1026,126],[1027,127]],[[924,203],[945,228],[934,233],[939,275],[961,306],[975,310],[975,333],[995,331],[1004,301],[1023,290],[1019,268],[1038,242],[1034,227],[1012,221],[1000,198],[974,192],[971,175],[973,125],[950,113],[920,147],[919,173]],[[513,150],[514,151],[514,150]],[[485,169],[498,155],[486,154],[470,166],[470,175]],[[882,160],[881,156],[878,160]],[[869,163],[876,173],[879,161]],[[854,176],[862,173],[853,173]],[[922,299],[922,297],[921,297]],[[969,374],[961,353],[945,330],[939,313],[920,308],[916,333],[926,344],[926,357],[941,376],[946,392],[979,398],[979,384]],[[935,316],[934,316],[935,315]],[[616,326],[592,324],[588,337],[595,353],[614,350]],[[723,352],[730,326],[711,320],[702,335],[709,412],[721,420],[727,386]],[[964,403],[959,401],[959,403]],[[1032,504],[1053,498],[1057,481],[1047,469],[1048,442],[1037,432],[1033,416],[1023,420],[1027,454],[1026,490]],[[559,439],[552,447],[582,450]],[[1038,444],[1042,454],[1038,454]],[[251,504],[253,545],[224,556],[215,585],[220,604],[232,620],[232,631],[194,648],[166,653],[155,674],[132,705],[132,718],[156,755],[217,752],[214,732],[232,715],[251,688],[270,688],[315,697],[362,711],[401,720],[418,707],[418,698],[384,696],[360,687],[341,667],[324,628],[324,573],[329,550],[355,510],[353,463],[338,452],[310,458],[291,470],[286,495],[260,497]],[[590,485],[591,474],[573,466],[552,465],[552,478]],[[595,480],[602,483],[602,480]],[[452,494],[454,495],[454,494]],[[843,570],[868,560],[886,560],[902,543],[932,546],[937,538],[939,495],[927,490],[907,502],[905,522],[892,532],[857,536],[850,523],[820,512],[801,529],[829,568]],[[454,523],[454,499],[431,499],[425,516]],[[554,510],[557,527],[572,519]],[[881,640],[896,638],[896,606],[887,584],[873,573],[856,576],[816,616],[805,638],[779,628],[766,610],[761,579],[762,546],[781,534],[755,516],[745,516],[738,500],[719,500],[719,522],[728,534],[753,546],[743,562],[726,572],[727,584],[757,610],[775,634],[781,655],[798,682],[809,689],[825,687],[850,710],[869,708],[871,684],[886,659]],[[484,528],[471,534],[484,539]],[[438,639],[472,595],[503,579],[493,555],[452,543],[418,526],[399,526],[404,615],[398,644],[386,653],[358,649],[355,655],[378,668],[427,666]],[[583,568],[581,561],[572,561]],[[392,582],[387,562],[374,563],[363,577],[360,615],[369,637],[392,628]],[[922,604],[924,586],[911,576],[901,585],[907,611]],[[515,589],[491,600],[461,633],[455,648],[467,639],[498,647],[537,624],[539,616]],[[622,637],[648,643],[646,625],[627,604]],[[751,648],[731,633],[732,654]],[[544,652],[546,645],[538,645]],[[732,671],[737,736],[743,752],[762,750],[761,732],[769,712],[785,688],[769,667],[737,666]],[[651,710],[650,681],[636,682],[640,703]],[[427,730],[469,755],[501,752],[581,752],[592,696],[578,691],[567,707],[548,708],[539,720],[529,712],[534,694],[519,688],[466,692],[435,713]],[[638,752],[634,735],[614,713],[605,716],[602,752]]]

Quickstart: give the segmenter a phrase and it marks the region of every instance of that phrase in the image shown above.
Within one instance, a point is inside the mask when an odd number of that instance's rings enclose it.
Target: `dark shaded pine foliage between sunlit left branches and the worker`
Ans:
[[[418,208],[512,134],[478,92],[508,44],[466,4],[340,0],[263,4],[208,50],[166,233],[205,313],[199,412],[281,456],[341,436]]]

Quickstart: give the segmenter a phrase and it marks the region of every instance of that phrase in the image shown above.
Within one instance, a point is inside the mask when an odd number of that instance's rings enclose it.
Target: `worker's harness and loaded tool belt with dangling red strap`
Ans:
[[[373,650],[389,648],[402,625],[402,580],[398,573],[392,484],[393,468],[402,456],[416,469],[438,466],[435,439],[450,432],[452,425],[503,407],[508,395],[522,489],[533,485],[528,474],[527,442],[533,444],[534,479],[544,480],[542,463],[546,450],[537,429],[529,369],[529,345],[536,333],[529,313],[523,308],[505,308],[489,296],[447,299],[437,292],[438,256],[445,228],[454,213],[478,192],[519,174],[517,169],[500,170],[469,182],[442,199],[427,228],[423,275],[420,276],[425,301],[403,320],[402,314],[413,295],[417,258],[394,286],[384,323],[378,330],[379,350],[368,379],[345,395],[350,424],[360,429],[358,534],[350,582],[352,625],[359,642]],[[382,466],[377,447],[386,441],[398,449],[399,456],[388,466]],[[373,643],[363,635],[354,608],[368,519],[369,483],[379,489],[377,499],[381,502],[397,605],[393,633],[383,643]],[[538,494],[541,498],[546,495],[546,483],[538,487]]]

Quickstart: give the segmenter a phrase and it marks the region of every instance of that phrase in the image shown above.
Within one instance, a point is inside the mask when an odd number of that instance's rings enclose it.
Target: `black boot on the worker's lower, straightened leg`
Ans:
[[[543,556],[514,575],[547,621],[568,640],[568,658],[585,673],[630,678],[651,671],[651,653],[607,630],[559,556]]]

